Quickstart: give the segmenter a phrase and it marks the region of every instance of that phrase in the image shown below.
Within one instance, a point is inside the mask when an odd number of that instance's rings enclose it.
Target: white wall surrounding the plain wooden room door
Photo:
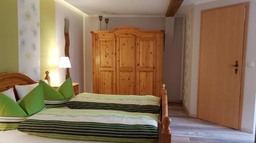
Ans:
[[[200,20],[201,10],[216,8],[221,6],[227,6],[242,2],[250,1],[249,11],[249,24],[248,24],[248,39],[247,39],[247,51],[246,51],[246,63],[249,61],[256,61],[256,1],[254,0],[226,0],[215,1],[210,3],[204,3],[195,5],[193,10],[193,24],[191,24],[192,36],[192,51],[191,51],[191,87],[189,91],[190,106],[187,107],[191,115],[197,114],[197,96],[198,96],[198,68],[199,68],[199,42],[200,42]],[[243,102],[243,114],[242,114],[242,130],[252,133],[255,130],[254,122],[254,108],[255,108],[255,93],[256,93],[256,69],[245,69],[245,85],[244,85],[244,102]]]

